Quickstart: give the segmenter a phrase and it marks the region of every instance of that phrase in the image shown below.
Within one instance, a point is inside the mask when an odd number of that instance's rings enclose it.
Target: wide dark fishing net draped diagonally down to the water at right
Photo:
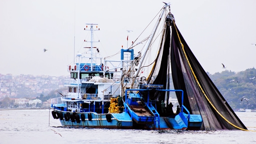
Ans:
[[[206,74],[203,67],[199,64],[180,34],[177,26],[173,24],[171,27],[171,68],[173,85],[176,90],[184,91],[183,104],[190,111],[190,114],[200,114],[202,116],[203,126],[201,127],[201,130],[238,129],[235,128],[235,126],[247,129],[228,103],[225,102],[222,94]],[[180,40],[178,37],[180,37]],[[180,42],[184,45],[184,49]],[[188,62],[190,63],[191,68]],[[162,66],[164,67],[166,64],[163,64]],[[181,93],[177,92],[176,95],[178,102],[181,105]],[[224,118],[226,120],[224,120]],[[232,126],[227,121],[235,126]]]

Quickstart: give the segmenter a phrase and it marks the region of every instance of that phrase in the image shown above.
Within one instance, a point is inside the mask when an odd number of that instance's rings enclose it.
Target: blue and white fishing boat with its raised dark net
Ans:
[[[118,60],[100,58],[99,48],[94,46],[97,41],[93,39],[94,32],[100,29],[97,24],[87,26],[84,30],[90,32],[91,40],[84,42],[91,46],[84,47],[87,51],[76,54],[76,62],[67,67],[70,73],[70,79],[65,80],[68,93],[60,93],[60,98],[51,100],[52,116],[60,120],[62,126],[246,129],[230,106],[222,102],[223,96],[186,45],[170,12],[170,4],[165,3],[159,11],[149,37],[136,44],[137,38],[126,49],[122,47]],[[157,38],[160,42],[155,46]],[[141,43],[146,44],[135,54]],[[154,49],[156,58],[149,59]],[[176,113],[169,104],[171,94],[177,97],[180,106]]]

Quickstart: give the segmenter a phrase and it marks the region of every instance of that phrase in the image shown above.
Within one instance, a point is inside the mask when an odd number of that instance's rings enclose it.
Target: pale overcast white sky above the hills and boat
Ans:
[[[100,28],[94,38],[100,40],[101,56],[115,54],[127,46],[128,34],[128,42],[141,34],[162,1],[1,0],[0,74],[68,75],[74,49],[76,54],[86,46],[86,23]],[[206,72],[256,67],[256,46],[251,45],[256,43],[255,0],[169,2],[178,29]]]

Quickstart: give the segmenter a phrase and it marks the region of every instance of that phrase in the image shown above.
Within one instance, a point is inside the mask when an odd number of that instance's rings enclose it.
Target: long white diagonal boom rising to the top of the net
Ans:
[[[152,31],[152,33],[151,33],[150,36],[149,36],[149,40],[147,41],[147,46],[146,46],[146,48],[144,49],[143,53],[141,54],[141,55],[142,55],[142,58],[141,58],[141,61],[139,61],[139,64],[138,64],[138,67],[137,67],[138,70],[135,71],[134,77],[132,78],[132,82],[131,82],[131,86],[132,86],[132,87],[133,87],[133,84],[134,84],[134,82],[135,82],[135,80],[136,80],[136,77],[138,77],[139,71],[140,71],[140,69],[141,69],[141,65],[142,65],[142,63],[143,63],[143,61],[144,61],[144,58],[145,58],[146,53],[147,53],[147,50],[149,50],[149,46],[151,45],[152,39],[154,38],[154,35],[155,35],[156,30],[157,30],[157,27],[159,26],[159,23],[160,23],[160,21],[161,21],[161,19],[162,19],[162,16],[163,16],[163,14],[164,14],[166,8],[169,7],[169,6],[170,6],[170,4],[165,3],[164,8],[163,8],[163,10],[162,10],[162,12],[161,12],[161,14],[160,14],[160,16],[159,16],[159,19],[158,19],[158,21],[157,21],[157,24],[156,24],[156,26],[154,27],[154,30]]]

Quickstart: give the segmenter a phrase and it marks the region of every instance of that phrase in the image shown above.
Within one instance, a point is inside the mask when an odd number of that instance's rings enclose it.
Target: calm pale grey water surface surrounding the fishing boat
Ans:
[[[256,130],[256,112],[237,112]],[[49,126],[50,120],[50,126]],[[255,127],[255,128],[253,128]],[[53,133],[52,130],[60,133]],[[109,130],[64,128],[49,110],[0,110],[0,144],[255,144],[253,131]]]

